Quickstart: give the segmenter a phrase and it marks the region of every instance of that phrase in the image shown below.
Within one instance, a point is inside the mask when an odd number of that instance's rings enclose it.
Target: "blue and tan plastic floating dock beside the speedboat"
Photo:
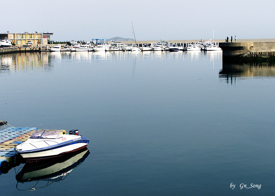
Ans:
[[[0,175],[7,173],[15,164],[15,147],[31,137],[37,128],[9,127],[0,130]]]

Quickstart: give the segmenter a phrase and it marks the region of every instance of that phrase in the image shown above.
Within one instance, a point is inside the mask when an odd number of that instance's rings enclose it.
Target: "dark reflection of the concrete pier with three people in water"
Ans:
[[[248,62],[234,63],[222,62],[219,78],[227,83],[236,84],[237,78],[246,79],[250,77],[275,77],[274,62]]]

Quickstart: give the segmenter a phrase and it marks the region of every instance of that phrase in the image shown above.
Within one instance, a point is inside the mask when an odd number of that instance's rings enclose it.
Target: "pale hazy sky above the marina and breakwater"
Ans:
[[[275,1],[24,0],[1,9],[1,33],[51,32],[51,40],[275,38]]]

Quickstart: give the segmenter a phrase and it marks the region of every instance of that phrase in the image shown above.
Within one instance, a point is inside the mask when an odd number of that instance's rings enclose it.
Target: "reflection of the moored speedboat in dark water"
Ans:
[[[26,163],[24,167],[16,174],[17,180],[16,188],[20,191],[34,191],[35,188],[42,188],[49,186],[53,182],[64,180],[69,173],[78,167],[90,154],[88,148],[83,148],[70,155],[64,155],[59,158],[53,158],[50,161]],[[31,183],[36,183],[29,187]],[[39,181],[46,181],[46,185],[41,186]],[[28,188],[19,188],[20,184],[28,185]],[[39,185],[38,185],[39,184]]]

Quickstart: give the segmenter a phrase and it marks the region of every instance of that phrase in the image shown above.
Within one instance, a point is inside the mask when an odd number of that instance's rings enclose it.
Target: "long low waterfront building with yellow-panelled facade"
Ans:
[[[0,39],[8,38],[15,45],[26,45],[27,41],[31,41],[33,45],[48,44],[50,35],[53,33],[0,33]]]

